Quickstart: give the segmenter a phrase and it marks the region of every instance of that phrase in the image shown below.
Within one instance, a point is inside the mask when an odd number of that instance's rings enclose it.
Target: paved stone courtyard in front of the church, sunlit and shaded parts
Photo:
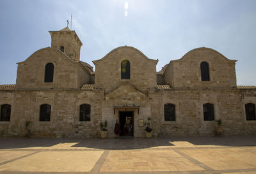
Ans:
[[[256,173],[256,136],[0,138],[0,173]]]

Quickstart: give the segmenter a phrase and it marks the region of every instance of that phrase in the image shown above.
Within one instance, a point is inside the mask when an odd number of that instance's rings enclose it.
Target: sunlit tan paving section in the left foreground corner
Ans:
[[[39,152],[32,156],[3,164],[0,167],[0,171],[91,171],[102,154],[103,151]]]

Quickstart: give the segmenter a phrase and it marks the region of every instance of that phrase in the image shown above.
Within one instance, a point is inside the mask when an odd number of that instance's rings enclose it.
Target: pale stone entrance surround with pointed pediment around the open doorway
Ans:
[[[139,108],[115,108],[115,106],[139,106]],[[147,94],[138,91],[129,83],[121,85],[114,91],[105,94],[102,103],[102,120],[108,120],[108,136],[115,136],[116,120],[120,122],[119,112],[132,112],[134,119],[134,136],[143,137],[144,129],[139,127],[139,119],[147,120],[150,117],[150,103]]]

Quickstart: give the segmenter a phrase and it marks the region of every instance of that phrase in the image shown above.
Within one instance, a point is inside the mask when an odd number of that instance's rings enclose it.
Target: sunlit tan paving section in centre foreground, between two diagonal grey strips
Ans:
[[[173,150],[111,150],[100,171],[191,170],[204,169]]]

